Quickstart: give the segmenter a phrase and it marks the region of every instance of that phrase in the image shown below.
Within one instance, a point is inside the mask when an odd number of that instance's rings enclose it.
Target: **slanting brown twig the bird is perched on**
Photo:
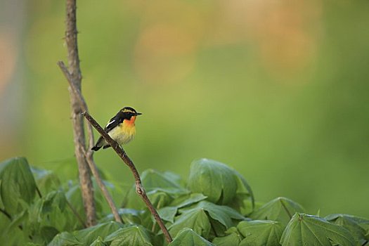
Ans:
[[[103,136],[105,141],[107,141],[112,146],[112,149],[115,150],[117,155],[119,155],[119,157],[123,160],[123,162],[127,164],[129,169],[131,169],[132,174],[134,175],[134,179],[136,181],[136,193],[140,195],[143,202],[145,202],[145,205],[150,210],[151,214],[153,214],[155,220],[157,221],[157,224],[162,229],[162,232],[164,233],[164,236],[167,242],[171,242],[172,239],[171,239],[171,235],[169,234],[168,229],[165,227],[164,222],[160,218],[159,214],[157,214],[155,207],[150,202],[150,200],[148,199],[148,195],[146,195],[145,190],[143,189],[141,178],[134,165],[134,162],[132,162],[131,159],[129,159],[124,149],[119,147],[119,144],[116,141],[112,140],[112,138],[110,138],[110,136],[103,130],[103,128],[98,124],[98,122],[96,122],[96,120],[93,119],[91,115],[89,115],[88,112],[83,112],[82,115],[84,115],[84,117],[91,123],[91,125],[101,134],[101,136]]]

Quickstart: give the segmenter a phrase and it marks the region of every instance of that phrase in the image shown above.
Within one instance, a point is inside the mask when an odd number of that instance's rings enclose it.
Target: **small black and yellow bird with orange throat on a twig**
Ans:
[[[112,117],[105,127],[105,131],[109,136],[117,141],[119,145],[129,143],[136,134],[134,122],[137,115],[142,115],[141,112],[136,112],[133,108],[124,107],[119,110],[115,117]],[[110,144],[105,141],[103,136],[98,138],[96,145],[91,150],[98,151],[103,148],[109,148]]]

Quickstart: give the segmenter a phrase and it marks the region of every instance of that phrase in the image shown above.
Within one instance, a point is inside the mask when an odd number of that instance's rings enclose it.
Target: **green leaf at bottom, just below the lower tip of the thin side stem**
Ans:
[[[98,224],[96,226],[91,226],[81,231],[75,231],[73,232],[73,235],[75,235],[75,238],[77,238],[79,242],[82,242],[81,245],[91,245],[91,243],[99,236],[101,238],[105,238],[107,235],[110,235],[119,228],[122,228],[122,226],[122,224],[110,221],[107,223]]]

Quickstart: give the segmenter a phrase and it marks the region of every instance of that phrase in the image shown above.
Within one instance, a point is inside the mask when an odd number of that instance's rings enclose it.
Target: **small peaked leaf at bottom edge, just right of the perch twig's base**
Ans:
[[[212,242],[202,238],[190,228],[183,228],[168,246],[212,246]]]

